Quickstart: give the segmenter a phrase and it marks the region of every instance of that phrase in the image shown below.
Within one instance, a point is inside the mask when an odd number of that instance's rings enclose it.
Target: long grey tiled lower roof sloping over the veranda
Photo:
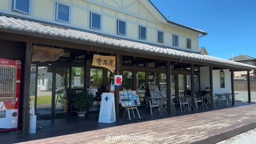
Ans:
[[[45,35],[68,37],[72,39],[90,41],[90,42],[95,42],[100,44],[108,44],[108,45],[118,46],[122,48],[135,49],[138,51],[160,53],[160,54],[163,54],[163,56],[171,55],[171,56],[177,56],[181,58],[188,58],[191,60],[196,59],[196,60],[203,60],[205,62],[211,61],[211,62],[220,63],[220,64],[229,64],[229,65],[234,65],[234,66],[239,66],[244,68],[252,68],[256,70],[255,66],[246,65],[243,63],[238,63],[230,60],[220,59],[220,58],[216,58],[208,55],[192,53],[192,52],[184,52],[181,50],[175,50],[175,49],[165,48],[160,46],[158,47],[151,44],[144,44],[140,42],[114,38],[111,36],[102,36],[99,34],[85,32],[82,30],[61,28],[61,27],[56,27],[52,25],[46,25],[39,22],[7,17],[3,15],[0,15],[0,28],[12,28],[17,30],[45,34]]]

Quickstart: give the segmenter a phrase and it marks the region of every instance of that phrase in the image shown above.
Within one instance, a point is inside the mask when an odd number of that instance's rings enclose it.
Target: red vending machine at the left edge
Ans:
[[[0,58],[0,131],[19,128],[21,60]]]

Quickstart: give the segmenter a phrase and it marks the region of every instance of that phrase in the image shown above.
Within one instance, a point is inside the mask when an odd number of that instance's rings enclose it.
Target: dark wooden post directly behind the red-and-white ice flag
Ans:
[[[120,75],[120,54],[116,54],[115,75]],[[115,78],[114,78],[115,79]],[[116,121],[119,121],[119,87],[115,87]]]

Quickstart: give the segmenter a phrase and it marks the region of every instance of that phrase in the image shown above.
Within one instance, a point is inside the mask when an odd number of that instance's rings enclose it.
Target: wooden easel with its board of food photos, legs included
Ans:
[[[137,108],[137,106],[140,106],[140,100],[138,98],[137,92],[136,91],[120,91],[119,96],[120,96],[122,106],[127,110],[129,121],[131,121],[129,109],[132,109],[132,113],[134,117],[135,115],[134,115],[133,109],[136,109],[138,116],[140,118],[140,114]],[[124,111],[124,115],[125,115],[125,111]]]

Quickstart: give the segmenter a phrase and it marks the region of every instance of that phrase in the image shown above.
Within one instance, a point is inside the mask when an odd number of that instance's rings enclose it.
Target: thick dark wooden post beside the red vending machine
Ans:
[[[30,96],[30,68],[32,60],[32,43],[27,42],[25,60],[24,60],[24,92],[23,92],[23,117],[22,117],[22,135],[28,134],[28,119],[29,119],[29,96]]]

